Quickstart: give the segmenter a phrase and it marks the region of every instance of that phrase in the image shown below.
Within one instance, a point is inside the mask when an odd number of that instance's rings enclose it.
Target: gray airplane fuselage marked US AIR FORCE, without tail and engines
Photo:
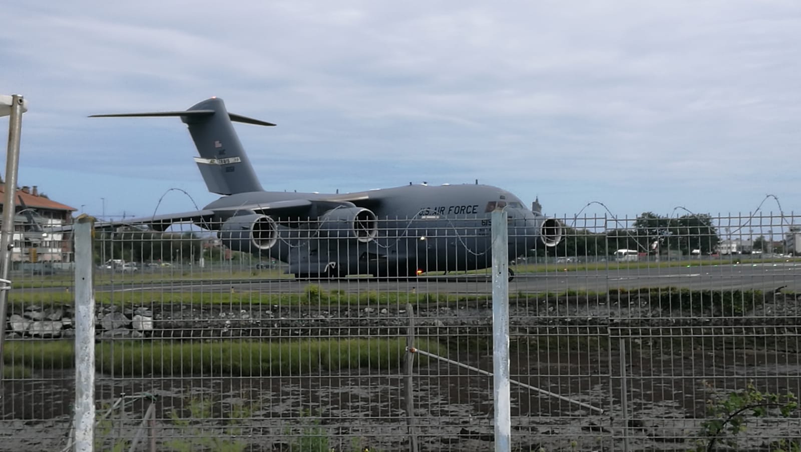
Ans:
[[[537,246],[537,234],[545,220],[525,208],[512,193],[478,184],[405,185],[341,195],[245,192],[215,200],[205,209],[299,198],[348,200],[371,209],[379,223],[378,235],[367,243],[320,240],[308,221],[300,222],[296,228],[281,225],[280,239],[272,248],[250,250],[284,261],[290,264],[288,272],[301,275],[324,273],[331,263],[338,276],[376,272],[408,276],[416,272],[487,268],[492,265],[489,219],[493,204],[505,203],[510,259]]]

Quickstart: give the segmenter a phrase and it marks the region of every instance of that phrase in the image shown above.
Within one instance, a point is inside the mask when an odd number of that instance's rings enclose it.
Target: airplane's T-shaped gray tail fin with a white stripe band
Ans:
[[[228,113],[223,99],[215,97],[196,103],[185,111],[118,113],[90,117],[131,116],[179,116],[189,127],[189,134],[197,147],[200,156],[195,157],[195,162],[209,192],[233,195],[264,190],[231,121],[259,126],[276,124]]]

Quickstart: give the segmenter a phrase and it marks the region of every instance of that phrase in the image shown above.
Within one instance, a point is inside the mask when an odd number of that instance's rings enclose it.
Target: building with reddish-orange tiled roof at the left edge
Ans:
[[[6,185],[0,184],[0,212],[3,211],[3,197]],[[18,188],[14,196],[16,216],[14,216],[14,249],[11,252],[12,262],[70,262],[72,260],[72,244],[69,233],[43,234],[34,231],[35,225],[30,223],[30,213],[41,228],[56,228],[72,223],[72,208],[66,204],[50,200],[39,193],[36,185],[33,188]],[[20,202],[22,199],[22,203]],[[24,203],[25,207],[22,207]]]

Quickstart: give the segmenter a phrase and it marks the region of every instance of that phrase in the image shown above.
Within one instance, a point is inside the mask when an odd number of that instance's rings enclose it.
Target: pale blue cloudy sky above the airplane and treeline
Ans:
[[[767,194],[801,212],[796,1],[77,0],[2,13],[0,94],[30,104],[19,184],[95,215],[102,198],[119,218],[216,196],[179,119],[87,115],[212,95],[278,123],[236,126],[268,190],[478,179],[558,215],[591,201],[618,215],[749,212]]]

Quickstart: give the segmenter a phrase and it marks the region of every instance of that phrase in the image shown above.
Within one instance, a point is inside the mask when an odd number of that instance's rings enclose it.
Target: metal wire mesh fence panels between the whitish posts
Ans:
[[[96,450],[493,447],[486,219],[240,220],[95,233]],[[508,224],[514,450],[799,446],[794,216],[560,221]],[[74,264],[10,275],[0,449],[62,450]]]

